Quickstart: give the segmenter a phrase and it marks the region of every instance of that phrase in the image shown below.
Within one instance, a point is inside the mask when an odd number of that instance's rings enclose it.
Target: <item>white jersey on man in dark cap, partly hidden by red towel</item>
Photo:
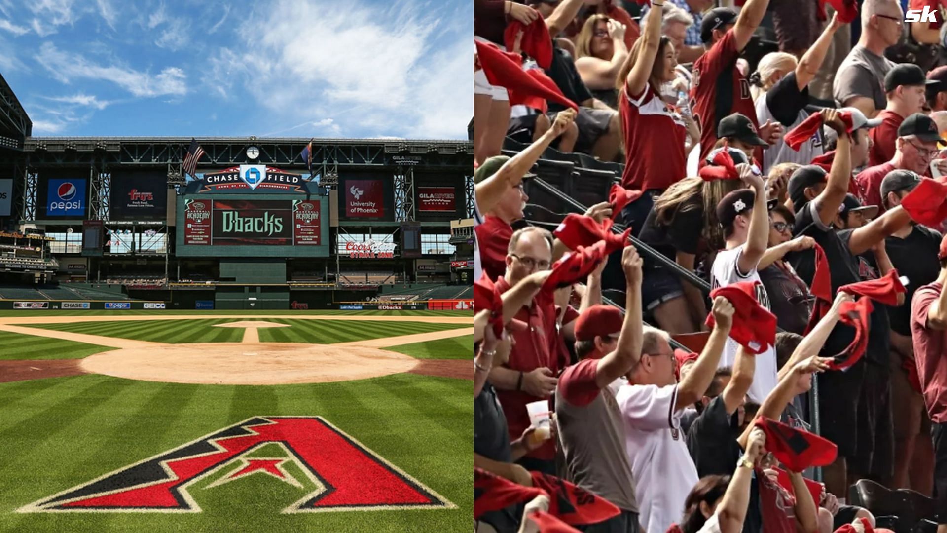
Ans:
[[[749,272],[741,272],[738,260],[743,252],[743,247],[722,249],[717,252],[714,258],[713,267],[710,269],[710,286],[717,288],[726,285],[732,285],[739,282],[759,282],[759,272],[754,267]],[[769,309],[769,295],[766,294],[766,288],[760,283],[757,285],[757,300],[763,307]],[[737,358],[737,349],[740,344],[732,338],[726,339],[724,354],[720,358],[721,367],[732,367]],[[777,385],[777,364],[776,349],[773,346],[766,348],[766,351],[756,356],[756,372],[753,374],[753,384],[750,385],[750,399],[757,403],[762,403],[763,399],[770,394],[770,391]]]

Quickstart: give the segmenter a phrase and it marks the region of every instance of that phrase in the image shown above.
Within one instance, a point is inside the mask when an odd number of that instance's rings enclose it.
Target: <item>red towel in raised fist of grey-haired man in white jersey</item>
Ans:
[[[733,327],[730,338],[736,340],[751,354],[761,354],[767,346],[776,343],[776,315],[757,301],[759,282],[740,282],[710,291],[710,300],[723,296],[733,304]],[[713,313],[707,313],[706,324],[713,327]]]

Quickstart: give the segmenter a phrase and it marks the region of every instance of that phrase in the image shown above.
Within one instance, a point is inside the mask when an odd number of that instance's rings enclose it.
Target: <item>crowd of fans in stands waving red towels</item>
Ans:
[[[947,3],[733,4],[474,0],[477,531],[947,533]],[[623,165],[552,232],[551,150]]]

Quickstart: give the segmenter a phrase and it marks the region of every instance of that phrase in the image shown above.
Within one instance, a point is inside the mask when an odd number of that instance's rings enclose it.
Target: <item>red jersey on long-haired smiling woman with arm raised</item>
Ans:
[[[640,95],[632,95],[625,83],[618,98],[625,138],[621,186],[636,191],[664,191],[687,177],[684,142],[688,130],[684,119],[655,94],[651,83]]]

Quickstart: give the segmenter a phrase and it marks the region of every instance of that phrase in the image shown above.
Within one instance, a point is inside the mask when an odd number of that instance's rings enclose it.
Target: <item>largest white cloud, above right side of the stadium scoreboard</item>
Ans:
[[[378,134],[466,138],[473,116],[468,49],[438,50],[442,13],[420,0],[318,6],[277,0],[246,17],[244,41],[211,56],[206,83],[222,96],[242,83],[283,119],[332,115]],[[461,39],[469,48],[469,39]]]

